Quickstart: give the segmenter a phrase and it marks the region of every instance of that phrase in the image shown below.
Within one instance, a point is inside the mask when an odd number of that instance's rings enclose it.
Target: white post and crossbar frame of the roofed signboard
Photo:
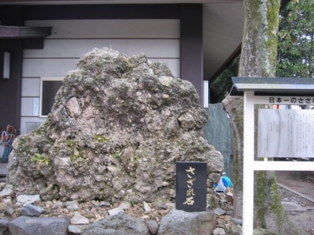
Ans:
[[[314,94],[313,94],[314,96]],[[312,98],[313,98],[312,96]],[[292,104],[290,96],[283,96],[282,103]],[[296,98],[306,99],[306,97],[294,96]],[[254,91],[244,91],[243,96],[243,235],[253,234],[253,218],[254,218],[254,171],[255,170],[288,170],[288,171],[314,171],[313,162],[302,161],[255,161],[255,105],[256,104],[278,104],[270,103],[269,96],[255,96]],[[299,103],[297,103],[299,104]],[[306,104],[306,103],[304,103]],[[313,105],[313,104],[312,104]]]

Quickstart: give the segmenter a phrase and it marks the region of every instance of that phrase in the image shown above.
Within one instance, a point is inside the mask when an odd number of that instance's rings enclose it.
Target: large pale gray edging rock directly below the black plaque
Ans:
[[[216,227],[212,211],[184,212],[172,209],[161,219],[158,235],[211,235]]]

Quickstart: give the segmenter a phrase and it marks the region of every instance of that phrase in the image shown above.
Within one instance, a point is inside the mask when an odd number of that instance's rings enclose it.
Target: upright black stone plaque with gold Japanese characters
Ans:
[[[206,210],[207,163],[179,161],[176,163],[176,210]]]

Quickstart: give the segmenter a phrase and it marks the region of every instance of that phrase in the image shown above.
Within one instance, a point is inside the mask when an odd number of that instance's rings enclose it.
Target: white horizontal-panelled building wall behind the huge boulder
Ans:
[[[180,76],[180,21],[176,19],[47,20],[26,21],[26,26],[53,27],[42,50],[24,50],[21,134],[39,118],[40,78],[64,77],[83,54],[93,48],[112,48],[131,56],[144,52],[152,62],[168,63]]]

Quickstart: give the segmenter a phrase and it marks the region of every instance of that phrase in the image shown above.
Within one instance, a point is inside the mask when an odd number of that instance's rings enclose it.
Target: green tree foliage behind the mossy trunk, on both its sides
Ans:
[[[279,16],[277,77],[313,78],[314,70],[314,1],[291,0]],[[273,42],[271,43],[273,44]],[[210,103],[220,103],[237,76],[239,57],[210,85]]]

